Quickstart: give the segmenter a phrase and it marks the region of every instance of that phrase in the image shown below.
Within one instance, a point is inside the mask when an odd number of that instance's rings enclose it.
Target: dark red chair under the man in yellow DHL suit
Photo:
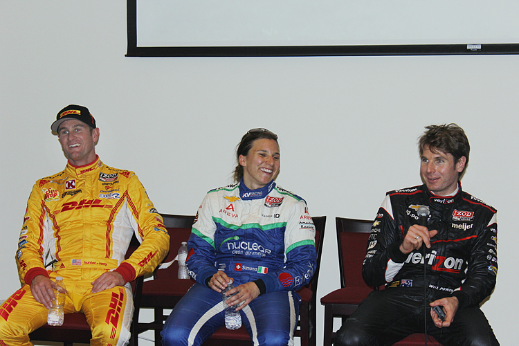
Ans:
[[[126,252],[125,258],[128,258],[136,248],[138,248],[139,242],[137,238],[131,239],[130,246]],[[140,291],[143,288],[143,277],[137,277],[136,280],[131,282],[131,289],[134,295],[134,317],[131,322],[131,339],[129,342],[130,346],[138,345],[137,334],[135,333],[135,327],[139,316],[139,304],[140,304]],[[81,312],[67,313],[64,318],[63,325],[59,327],[53,327],[50,325],[43,325],[39,327],[31,334],[29,334],[31,341],[53,341],[62,342],[64,346],[72,346],[72,343],[90,343],[92,334],[90,326],[86,322],[84,314]]]

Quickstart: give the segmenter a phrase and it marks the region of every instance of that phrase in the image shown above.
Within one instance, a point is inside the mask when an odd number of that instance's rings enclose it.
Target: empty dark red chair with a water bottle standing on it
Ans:
[[[169,215],[161,214],[164,226],[170,233],[170,253],[163,260],[163,263],[171,262],[176,257],[182,242],[187,242],[194,221],[194,215]],[[179,264],[175,261],[165,269],[156,269],[154,280],[143,283],[143,293],[140,297],[140,307],[154,310],[154,320],[152,322],[139,322],[136,325],[138,334],[147,330],[154,330],[155,345],[162,345],[161,330],[164,321],[169,314],[165,314],[165,309],[173,309],[177,302],[194,284],[192,279],[178,279],[177,273]]]

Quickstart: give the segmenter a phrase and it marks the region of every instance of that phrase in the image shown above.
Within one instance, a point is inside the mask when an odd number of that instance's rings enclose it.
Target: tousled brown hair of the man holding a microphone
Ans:
[[[468,154],[471,152],[471,145],[468,144],[465,131],[456,124],[430,125],[426,126],[426,129],[427,131],[418,140],[420,156],[426,148],[431,152],[439,150],[452,155],[454,163],[457,163],[459,158],[465,156],[465,167],[459,174],[461,177],[468,165]]]

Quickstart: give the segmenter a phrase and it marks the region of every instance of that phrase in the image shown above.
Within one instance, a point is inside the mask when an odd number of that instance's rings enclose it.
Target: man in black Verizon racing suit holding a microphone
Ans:
[[[426,326],[445,346],[499,345],[479,307],[498,271],[496,210],[462,191],[470,151],[463,129],[426,129],[419,140],[424,185],[386,194],[367,243],[363,277],[385,289],[359,304],[336,345],[392,345]],[[426,226],[421,206],[430,213]],[[444,311],[443,321],[432,307]]]

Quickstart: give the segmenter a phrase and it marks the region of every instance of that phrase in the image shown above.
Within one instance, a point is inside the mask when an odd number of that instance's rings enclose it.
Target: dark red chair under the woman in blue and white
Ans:
[[[299,309],[298,328],[296,329],[294,336],[301,338],[301,346],[316,346],[317,340],[317,284],[322,254],[322,243],[325,239],[326,217],[312,217],[312,220],[313,224],[316,225],[317,268],[309,284],[298,291],[301,296],[301,307]],[[215,334],[212,334],[204,345],[230,345],[229,340],[233,340],[232,345],[251,345],[251,337],[248,336],[247,330],[243,326],[237,330],[228,330],[225,326],[221,327],[215,331]]]

